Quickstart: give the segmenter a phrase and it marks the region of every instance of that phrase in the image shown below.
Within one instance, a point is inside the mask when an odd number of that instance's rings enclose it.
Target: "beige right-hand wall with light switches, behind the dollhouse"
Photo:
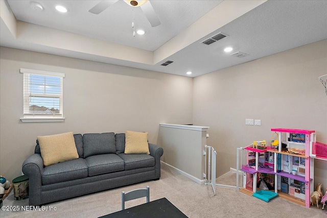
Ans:
[[[326,69],[323,40],[195,78],[194,124],[210,127],[217,177],[236,168],[237,148],[269,141],[271,128],[312,129],[327,144],[327,96],[318,81]],[[261,126],[246,126],[246,118]],[[326,166],[315,160],[315,184],[327,181]]]

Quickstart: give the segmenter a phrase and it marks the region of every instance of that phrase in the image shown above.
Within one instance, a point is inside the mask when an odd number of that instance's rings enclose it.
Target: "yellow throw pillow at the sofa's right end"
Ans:
[[[126,131],[125,154],[150,154],[148,133]]]

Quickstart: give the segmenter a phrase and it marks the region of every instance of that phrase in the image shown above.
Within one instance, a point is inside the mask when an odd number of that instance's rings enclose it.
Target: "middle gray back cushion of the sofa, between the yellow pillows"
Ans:
[[[87,133],[83,135],[84,158],[98,154],[115,154],[114,133]]]

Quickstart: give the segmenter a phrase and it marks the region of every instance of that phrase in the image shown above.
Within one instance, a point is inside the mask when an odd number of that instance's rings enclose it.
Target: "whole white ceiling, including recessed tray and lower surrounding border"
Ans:
[[[237,15],[229,18],[229,14],[239,13],[238,11],[245,8],[244,2],[251,1],[243,1],[243,3],[232,1],[232,4],[236,4],[237,7],[231,8],[226,6],[231,4],[231,1],[226,0],[224,2],[150,0],[161,22],[161,25],[153,28],[141,8],[130,7],[122,0],[111,5],[99,15],[89,13],[88,10],[100,1],[34,1],[43,6],[43,11],[32,10],[30,2],[8,0],[7,6],[17,20],[16,35],[12,33],[14,31],[11,30],[10,22],[2,9],[0,35],[2,46],[181,76],[188,76],[185,72],[190,70],[193,72],[190,77],[200,76],[228,66],[327,39],[327,1],[269,0],[261,1],[261,3],[256,1],[258,7],[251,6],[254,9],[246,9],[247,13],[240,12],[245,13],[240,17]],[[62,14],[55,11],[56,4],[66,6],[69,10],[68,13]],[[218,13],[219,11],[220,13]],[[133,13],[135,28],[145,29],[144,36],[132,36]],[[228,22],[223,22],[228,19]],[[28,23],[33,23],[34,26]],[[94,38],[101,40],[99,42],[101,42],[103,50],[106,50],[103,43],[107,43],[108,46],[127,45],[137,48],[137,52],[144,54],[142,57],[149,56],[149,59],[140,58],[142,60],[139,61],[137,58],[133,59],[132,52],[134,51],[126,46],[121,47],[122,57],[118,57],[118,54],[104,54],[107,51],[99,51],[101,47],[87,52],[82,49],[72,49],[71,46],[74,45],[69,44],[65,37],[60,37],[60,40],[66,39],[67,43],[58,41],[57,45],[49,44],[53,42],[46,42],[46,40],[45,42],[44,40],[38,42],[35,39],[34,41],[32,39],[25,40],[24,31],[33,32],[35,30],[33,28],[44,27],[50,28],[43,29],[44,35],[46,35],[45,32],[57,30],[62,31],[60,33],[70,32],[87,37],[83,38],[84,42],[89,41],[90,45],[96,47],[94,41],[91,41]],[[216,27],[218,28],[216,29]],[[26,30],[28,28],[30,30]],[[200,43],[219,32],[223,32],[229,37],[211,45]],[[59,40],[59,38],[55,40]],[[81,47],[83,44],[78,46]],[[167,49],[169,46],[170,51]],[[225,53],[223,49],[226,46],[232,46],[233,51]],[[239,51],[249,54],[249,56],[243,58],[230,56]],[[128,56],[131,58],[129,59]],[[160,65],[167,60],[172,60],[174,63],[168,66]]]

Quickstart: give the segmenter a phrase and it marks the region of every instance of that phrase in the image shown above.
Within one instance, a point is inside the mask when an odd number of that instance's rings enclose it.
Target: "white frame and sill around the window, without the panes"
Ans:
[[[29,93],[26,93],[29,88],[27,87],[29,85],[29,82],[26,82],[25,79],[23,79],[23,117],[20,118],[21,122],[24,123],[35,123],[35,122],[63,122],[63,78],[65,77],[65,74],[62,74],[60,72],[50,72],[50,71],[43,71],[43,70],[36,70],[36,69],[25,69],[20,68],[20,72],[24,74],[23,78],[26,78],[27,75],[41,75],[41,76],[49,76],[49,77],[57,77],[60,78],[60,88],[61,88],[61,94],[59,98],[59,111],[58,114],[32,114],[29,113],[27,108],[29,108],[29,99],[30,95]],[[40,94],[42,96],[54,96],[54,94]],[[56,94],[56,96],[58,96]]]

